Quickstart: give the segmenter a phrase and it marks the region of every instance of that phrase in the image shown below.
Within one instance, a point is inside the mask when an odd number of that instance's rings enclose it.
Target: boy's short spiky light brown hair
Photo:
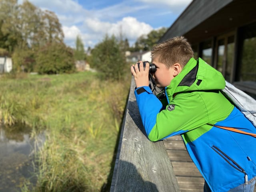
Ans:
[[[152,61],[158,59],[158,62],[165,64],[167,68],[175,63],[179,63],[183,68],[193,56],[194,52],[183,36],[177,36],[157,44],[151,51]]]

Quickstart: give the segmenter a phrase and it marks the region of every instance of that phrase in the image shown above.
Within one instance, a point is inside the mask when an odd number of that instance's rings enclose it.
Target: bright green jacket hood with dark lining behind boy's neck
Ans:
[[[191,58],[182,71],[166,87],[168,98],[175,93],[190,91],[222,90],[225,88],[222,74],[201,58]]]

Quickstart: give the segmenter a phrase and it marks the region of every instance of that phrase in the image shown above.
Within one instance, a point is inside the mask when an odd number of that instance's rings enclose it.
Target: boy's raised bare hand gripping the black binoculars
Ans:
[[[134,76],[136,87],[142,87],[142,86],[148,86],[149,80],[148,80],[148,73],[149,73],[149,63],[146,63],[145,70],[143,68],[142,61],[140,63],[140,70],[138,69],[138,64],[131,66],[131,72]],[[134,70],[135,69],[135,70]]]

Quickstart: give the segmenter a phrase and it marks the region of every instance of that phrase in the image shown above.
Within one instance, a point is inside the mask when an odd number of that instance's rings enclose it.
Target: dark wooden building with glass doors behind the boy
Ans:
[[[255,10],[255,0],[193,0],[159,42],[186,37],[195,58],[204,59],[255,98]]]

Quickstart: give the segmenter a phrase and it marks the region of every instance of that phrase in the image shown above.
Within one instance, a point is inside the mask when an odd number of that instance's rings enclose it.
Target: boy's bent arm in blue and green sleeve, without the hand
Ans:
[[[206,107],[194,93],[176,95],[164,110],[149,87],[137,88],[135,96],[142,123],[151,141],[183,134],[208,122]]]

